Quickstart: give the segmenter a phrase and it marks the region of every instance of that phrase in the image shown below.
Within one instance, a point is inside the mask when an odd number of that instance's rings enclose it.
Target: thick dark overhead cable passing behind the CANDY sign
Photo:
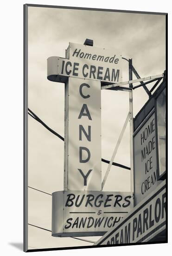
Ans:
[[[56,135],[59,139],[61,139],[62,141],[64,141],[64,137],[62,137],[61,135],[59,135],[57,132],[55,132],[53,129],[51,129],[48,125],[45,124],[44,121],[42,121],[38,115],[36,115],[30,108],[28,108],[28,114],[33,118],[35,119],[36,121],[38,121],[40,124],[42,124],[46,129],[48,129],[52,134]],[[105,163],[109,163],[110,161],[108,160],[105,160],[102,158],[102,162],[105,162]],[[115,165],[115,166],[118,166],[120,168],[124,168],[124,169],[127,169],[127,170],[131,170],[130,167],[127,167],[125,165],[122,165],[120,163],[116,163],[116,162],[112,162],[112,165]]]

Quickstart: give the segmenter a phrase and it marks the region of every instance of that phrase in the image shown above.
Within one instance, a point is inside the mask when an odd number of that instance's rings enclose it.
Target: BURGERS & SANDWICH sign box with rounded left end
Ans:
[[[132,209],[131,192],[54,192],[52,236],[101,236]]]

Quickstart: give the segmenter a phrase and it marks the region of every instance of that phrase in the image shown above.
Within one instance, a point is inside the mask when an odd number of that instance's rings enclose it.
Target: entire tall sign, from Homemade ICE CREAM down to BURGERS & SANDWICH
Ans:
[[[47,64],[47,78],[65,83],[65,191],[52,194],[52,236],[103,235],[133,209],[130,192],[101,191],[101,83],[122,81],[121,55],[70,43]]]

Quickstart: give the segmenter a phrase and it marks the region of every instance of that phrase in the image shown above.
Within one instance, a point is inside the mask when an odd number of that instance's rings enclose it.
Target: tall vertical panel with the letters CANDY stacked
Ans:
[[[65,88],[64,158],[65,189],[102,189],[100,81],[69,77]]]

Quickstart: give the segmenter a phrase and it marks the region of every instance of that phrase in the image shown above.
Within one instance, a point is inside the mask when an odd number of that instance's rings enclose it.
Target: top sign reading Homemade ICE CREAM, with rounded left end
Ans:
[[[122,81],[121,55],[114,50],[69,44],[69,59],[48,58],[48,79],[56,77],[75,77],[102,82],[117,83]],[[53,64],[52,64],[53,63]]]

